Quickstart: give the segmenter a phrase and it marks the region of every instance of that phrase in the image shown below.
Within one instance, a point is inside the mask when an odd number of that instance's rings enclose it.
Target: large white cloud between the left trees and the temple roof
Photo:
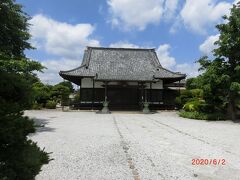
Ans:
[[[80,66],[85,46],[99,46],[100,42],[90,36],[94,31],[91,24],[68,24],[42,14],[30,20],[32,42],[37,49],[59,56],[58,60],[45,59],[41,63],[47,68],[38,73],[40,79],[49,84],[61,81],[60,70]]]

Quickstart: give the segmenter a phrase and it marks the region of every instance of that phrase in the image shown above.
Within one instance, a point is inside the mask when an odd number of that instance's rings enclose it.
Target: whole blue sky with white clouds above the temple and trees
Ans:
[[[231,0],[17,0],[32,19],[28,57],[48,69],[45,83],[61,81],[58,71],[81,64],[86,46],[156,48],[160,63],[173,71],[198,74],[194,62],[211,55],[215,25]],[[237,1],[235,1],[237,2]]]

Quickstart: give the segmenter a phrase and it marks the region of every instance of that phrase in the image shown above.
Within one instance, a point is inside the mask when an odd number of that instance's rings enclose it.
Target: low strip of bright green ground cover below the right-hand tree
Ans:
[[[221,113],[202,113],[202,112],[187,112],[187,111],[180,111],[179,116],[189,119],[198,119],[198,120],[226,120],[224,114]]]

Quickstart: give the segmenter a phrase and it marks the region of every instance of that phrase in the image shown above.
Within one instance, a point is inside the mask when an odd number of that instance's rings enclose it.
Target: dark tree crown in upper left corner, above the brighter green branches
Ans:
[[[29,16],[22,11],[22,6],[13,0],[0,2],[0,57],[2,59],[21,59],[24,50],[31,49],[28,42]]]

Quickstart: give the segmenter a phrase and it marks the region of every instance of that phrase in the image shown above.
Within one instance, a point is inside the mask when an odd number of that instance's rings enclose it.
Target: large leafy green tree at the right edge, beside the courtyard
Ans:
[[[201,58],[198,62],[202,75],[204,99],[213,111],[228,110],[236,119],[236,99],[240,92],[240,4],[233,5],[226,23],[217,25],[220,32],[218,46],[213,52],[215,59]]]

